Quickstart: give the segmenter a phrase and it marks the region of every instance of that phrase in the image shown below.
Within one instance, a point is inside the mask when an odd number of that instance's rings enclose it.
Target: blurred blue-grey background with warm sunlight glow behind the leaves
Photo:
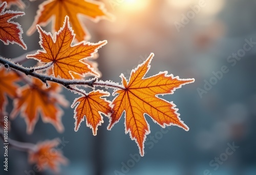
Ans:
[[[42,1],[23,2],[26,15],[16,21],[26,33]],[[102,2],[115,21],[93,23],[82,18],[92,36],[89,41],[108,40],[98,51],[101,79],[120,83],[121,73],[129,78],[131,70],[153,52],[155,57],[146,76],[168,71],[196,80],[173,95],[161,96],[177,105],[181,120],[190,130],[176,126],[161,129],[146,116],[151,134],[145,142],[146,155],[138,157],[136,143],[124,133],[124,117],[111,131],[106,129],[109,120],[104,117],[94,137],[86,122],[74,132],[73,109],[68,107],[63,108],[65,132],[57,133],[53,125],[39,119],[34,133],[27,135],[24,119],[17,117],[11,122],[9,137],[31,143],[54,138],[67,141],[62,151],[69,164],[60,167],[57,174],[62,175],[256,174],[256,1]],[[44,29],[50,31],[51,24]],[[40,49],[37,32],[30,37],[23,34],[23,38],[27,51],[0,42],[0,55],[15,58]],[[34,64],[31,60],[24,63]],[[66,90],[62,94],[70,103],[78,97]],[[7,111],[11,109],[9,104]],[[2,146],[0,150],[3,152]],[[33,169],[27,159],[26,152],[9,149],[7,174],[26,174]],[[0,173],[6,173],[3,167]],[[54,173],[46,170],[35,174]]]

